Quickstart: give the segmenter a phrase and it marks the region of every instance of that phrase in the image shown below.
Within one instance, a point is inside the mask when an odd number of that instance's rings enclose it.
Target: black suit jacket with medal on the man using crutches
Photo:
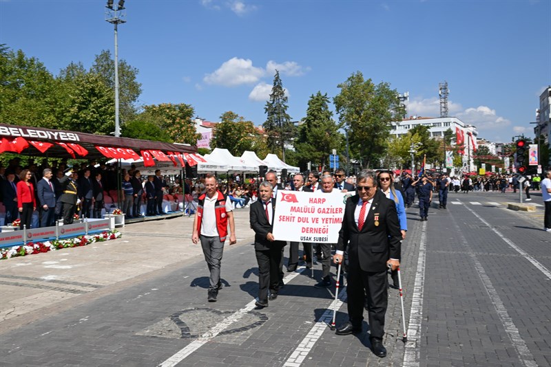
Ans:
[[[348,247],[349,258],[357,259],[363,271],[385,271],[388,259],[400,258],[402,232],[396,204],[377,190],[364,227],[360,231],[354,220],[354,212],[359,201],[360,197],[357,194],[346,199],[337,250],[344,251]],[[351,260],[350,263],[353,266],[355,262]]]

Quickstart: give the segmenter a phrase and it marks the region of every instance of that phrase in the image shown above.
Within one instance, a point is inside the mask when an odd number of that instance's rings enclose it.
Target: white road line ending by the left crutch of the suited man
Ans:
[[[343,287],[342,291],[340,291],[336,304],[335,300],[333,300],[323,315],[315,322],[312,329],[310,329],[308,334],[306,334],[304,339],[298,344],[293,353],[291,353],[291,356],[287,358],[283,367],[299,367],[300,364],[302,364],[314,347],[315,342],[318,342],[323,332],[327,329],[327,326],[331,325],[331,322],[333,322],[333,307],[337,310],[340,309],[344,301],[346,301],[346,287]]]

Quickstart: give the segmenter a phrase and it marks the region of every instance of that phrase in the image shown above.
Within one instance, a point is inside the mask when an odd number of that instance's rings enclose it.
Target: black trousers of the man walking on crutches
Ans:
[[[350,322],[360,326],[364,320],[364,302],[368,304],[368,322],[371,337],[384,335],[384,317],[388,305],[388,280],[385,271],[363,271],[357,258],[349,259],[346,277],[346,296]],[[367,295],[367,297],[365,296]]]

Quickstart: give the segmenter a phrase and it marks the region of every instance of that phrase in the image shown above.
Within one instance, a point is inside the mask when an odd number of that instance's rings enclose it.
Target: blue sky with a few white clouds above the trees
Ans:
[[[102,0],[0,0],[0,43],[52,72],[90,67],[113,52]],[[117,0],[115,0],[117,3]],[[309,97],[333,97],[355,71],[410,95],[410,115],[439,116],[446,80],[451,116],[479,137],[533,136],[551,84],[550,0],[127,0],[119,57],[139,69],[141,104],[191,104],[218,121],[233,111],[259,125],[279,69],[289,115]],[[333,105],[331,104],[331,109]],[[337,118],[337,116],[334,116]]]

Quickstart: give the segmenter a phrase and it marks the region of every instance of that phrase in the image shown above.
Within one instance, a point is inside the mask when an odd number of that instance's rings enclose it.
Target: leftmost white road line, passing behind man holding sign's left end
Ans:
[[[301,274],[304,270],[306,270],[306,267],[298,267],[298,271],[295,271],[288,276],[286,276],[283,280],[287,284],[287,282],[290,282],[295,278],[295,276],[298,276]],[[182,362],[186,357],[191,355],[191,353],[194,353],[197,351],[200,347],[207,344],[211,340],[216,337],[216,335],[220,334],[222,331],[227,329],[228,326],[233,324],[233,322],[238,321],[240,318],[245,316],[245,314],[249,311],[252,311],[256,305],[256,301],[258,299],[254,299],[251,302],[249,302],[245,307],[242,309],[232,313],[227,318],[222,320],[221,322],[218,322],[212,329],[207,331],[207,333],[204,333],[198,339],[194,340],[193,342],[187,344],[184,348],[180,349],[180,351],[176,352],[174,355],[172,355],[169,359],[167,359],[165,362],[159,364],[159,367],[174,367],[176,364]]]

